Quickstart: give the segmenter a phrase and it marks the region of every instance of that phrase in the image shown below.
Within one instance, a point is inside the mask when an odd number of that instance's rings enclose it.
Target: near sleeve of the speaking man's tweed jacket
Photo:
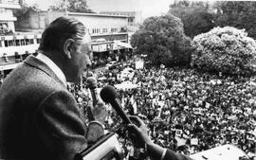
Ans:
[[[35,115],[37,132],[56,159],[71,160],[87,148],[86,126],[75,98],[65,91],[45,98]]]

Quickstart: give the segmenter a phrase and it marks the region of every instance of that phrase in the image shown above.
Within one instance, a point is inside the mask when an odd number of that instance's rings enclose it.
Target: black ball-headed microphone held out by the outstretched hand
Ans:
[[[115,109],[115,111],[118,113],[118,115],[122,118],[124,123],[131,124],[132,121],[130,118],[124,113],[122,110],[119,101],[118,101],[118,93],[116,89],[113,86],[107,85],[101,89],[101,99],[105,103],[110,103],[112,107]]]

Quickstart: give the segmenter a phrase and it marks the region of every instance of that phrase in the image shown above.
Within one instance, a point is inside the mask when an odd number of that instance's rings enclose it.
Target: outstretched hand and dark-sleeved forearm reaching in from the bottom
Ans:
[[[156,145],[149,138],[145,123],[137,116],[130,116],[130,119],[134,123],[128,125],[130,138],[134,142],[135,147],[145,148],[146,154],[152,160],[192,160],[186,155]]]

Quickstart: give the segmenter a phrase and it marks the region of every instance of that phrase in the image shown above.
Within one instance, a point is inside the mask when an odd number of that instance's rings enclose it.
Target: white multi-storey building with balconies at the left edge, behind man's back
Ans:
[[[27,55],[35,53],[41,35],[16,32],[17,18],[13,9],[20,9],[20,0],[0,0],[0,78],[15,68]]]

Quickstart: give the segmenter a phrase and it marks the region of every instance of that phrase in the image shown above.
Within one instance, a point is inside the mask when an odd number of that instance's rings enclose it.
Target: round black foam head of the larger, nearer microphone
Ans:
[[[116,98],[118,98],[118,93],[117,93],[116,89],[111,85],[107,85],[107,86],[103,87],[101,89],[100,95],[101,95],[101,99],[105,103],[109,103],[110,101],[113,101]]]

